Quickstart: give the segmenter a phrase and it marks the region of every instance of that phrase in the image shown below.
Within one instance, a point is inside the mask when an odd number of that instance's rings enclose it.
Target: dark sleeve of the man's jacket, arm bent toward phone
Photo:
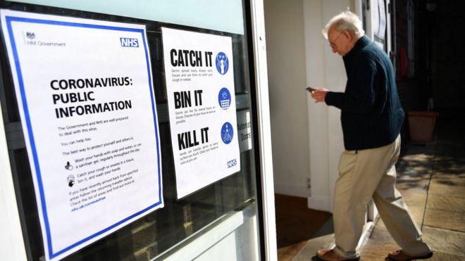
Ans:
[[[360,61],[348,76],[345,92],[329,91],[325,103],[349,113],[371,112],[375,106],[376,92],[380,91],[376,89],[379,84],[376,63],[370,59]]]

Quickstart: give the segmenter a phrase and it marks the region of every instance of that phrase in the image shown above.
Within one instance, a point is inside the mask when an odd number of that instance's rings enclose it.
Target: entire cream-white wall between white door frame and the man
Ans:
[[[360,1],[264,3],[275,192],[306,197],[309,208],[332,212],[337,165],[344,151],[340,110],[314,103],[302,89],[345,90],[342,57],[333,53],[321,29],[347,8],[359,14]]]

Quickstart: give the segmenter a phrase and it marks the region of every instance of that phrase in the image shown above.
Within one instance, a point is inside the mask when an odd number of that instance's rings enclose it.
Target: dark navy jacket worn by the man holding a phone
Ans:
[[[391,61],[366,36],[342,59],[347,73],[345,92],[328,92],[325,103],[341,110],[345,149],[391,144],[404,121]]]

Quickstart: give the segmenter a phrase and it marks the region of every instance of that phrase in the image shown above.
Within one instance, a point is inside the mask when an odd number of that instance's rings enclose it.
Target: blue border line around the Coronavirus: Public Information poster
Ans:
[[[54,21],[54,20],[39,20],[39,19],[32,19],[32,18],[20,18],[20,17],[8,16],[8,15],[5,16],[5,19],[6,19],[6,26],[8,28],[8,34],[10,35],[11,49],[13,50],[13,57],[15,59],[14,63],[16,65],[16,73],[18,74],[18,83],[20,86],[21,101],[23,101],[23,110],[24,110],[25,121],[27,125],[27,132],[29,133],[29,142],[31,145],[32,155],[34,158],[35,171],[37,174],[37,184],[39,185],[40,202],[42,204],[42,215],[44,217],[46,239],[47,239],[47,245],[48,245],[47,247],[49,249],[49,258],[51,259],[51,258],[54,258],[58,255],[61,255],[67,252],[68,250],[72,248],[75,248],[76,246],[81,245],[82,243],[85,243],[86,241],[91,240],[92,238],[95,238],[97,236],[100,236],[101,234],[104,234],[106,231],[109,231],[115,227],[118,227],[120,224],[123,224],[124,222],[127,222],[128,220],[134,217],[137,217],[138,215],[141,215],[142,213],[147,212],[148,210],[151,210],[152,208],[155,208],[157,205],[160,205],[162,203],[159,134],[158,134],[158,125],[156,122],[154,94],[153,94],[153,90],[151,87],[152,81],[151,81],[151,71],[150,71],[150,63],[149,63],[149,53],[147,51],[147,44],[145,40],[144,30],[142,29],[113,27],[113,26],[106,26],[106,25],[92,25],[92,24],[85,24],[85,23],[70,23],[70,22],[62,22],[62,21]],[[145,51],[145,58],[147,61],[147,75],[148,75],[148,80],[149,80],[149,89],[150,89],[150,98],[151,98],[151,110],[154,115],[154,124],[155,124],[156,154],[157,154],[157,163],[158,163],[158,172],[159,172],[158,173],[159,174],[159,202],[156,202],[153,205],[150,205],[149,207],[144,208],[143,210],[140,210],[139,212],[136,212],[135,214],[130,215],[129,217],[126,217],[125,219],[120,220],[116,224],[106,227],[105,229],[102,229],[101,231],[98,231],[97,233],[92,234],[91,236],[87,236],[87,238],[83,238],[82,240],[77,241],[76,243],[73,243],[72,245],[66,248],[63,248],[62,250],[58,250],[56,252],[54,252],[54,249],[52,247],[52,240],[51,240],[51,235],[50,235],[50,224],[49,224],[49,219],[47,216],[46,202],[45,202],[45,197],[44,197],[44,188],[42,184],[42,177],[41,177],[41,172],[40,172],[40,167],[39,167],[39,160],[37,157],[37,151],[35,148],[34,135],[32,133],[29,110],[27,108],[27,100],[26,100],[26,95],[25,95],[25,90],[24,90],[23,75],[21,74],[18,50],[16,49],[16,43],[15,43],[15,39],[13,35],[13,28],[11,27],[12,22],[38,23],[38,24],[46,24],[46,25],[61,25],[61,26],[69,26],[69,27],[84,27],[84,28],[91,28],[91,29],[116,30],[116,31],[123,31],[123,32],[140,32],[142,34],[142,42],[144,42],[144,51]]]

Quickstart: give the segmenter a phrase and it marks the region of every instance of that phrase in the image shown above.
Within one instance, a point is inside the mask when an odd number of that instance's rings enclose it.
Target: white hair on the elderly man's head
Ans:
[[[321,33],[326,39],[328,39],[328,30],[333,25],[337,32],[350,31],[358,38],[365,34],[364,27],[361,25],[361,20],[351,11],[343,11],[329,20],[328,24],[321,30]]]

